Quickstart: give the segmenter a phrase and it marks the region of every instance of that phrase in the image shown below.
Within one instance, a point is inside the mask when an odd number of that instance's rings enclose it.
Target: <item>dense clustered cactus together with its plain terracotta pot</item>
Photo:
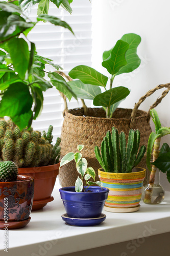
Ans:
[[[3,161],[14,161],[20,175],[28,175],[35,180],[33,210],[45,206],[54,200],[51,196],[59,172],[60,138],[52,145],[53,126],[47,134],[24,129],[11,120],[0,120],[0,158]]]

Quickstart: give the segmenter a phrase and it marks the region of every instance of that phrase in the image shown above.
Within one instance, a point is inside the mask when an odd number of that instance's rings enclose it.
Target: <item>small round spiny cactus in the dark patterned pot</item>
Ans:
[[[12,161],[0,162],[0,181],[16,181],[18,177],[18,167]]]

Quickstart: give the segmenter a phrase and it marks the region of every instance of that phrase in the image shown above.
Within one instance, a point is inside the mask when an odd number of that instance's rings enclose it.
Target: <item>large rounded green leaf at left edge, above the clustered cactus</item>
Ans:
[[[19,116],[31,110],[33,99],[28,86],[22,82],[10,84],[0,104],[0,116]]]

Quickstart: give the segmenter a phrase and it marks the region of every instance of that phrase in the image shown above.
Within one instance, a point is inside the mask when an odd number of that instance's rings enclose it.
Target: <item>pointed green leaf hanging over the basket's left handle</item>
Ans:
[[[53,86],[55,86],[57,90],[62,92],[68,98],[69,101],[72,98],[72,96],[75,99],[77,99],[76,94],[71,90],[71,88],[68,86],[67,82],[62,76],[60,76],[56,72],[53,72],[49,73],[48,77],[51,79]]]

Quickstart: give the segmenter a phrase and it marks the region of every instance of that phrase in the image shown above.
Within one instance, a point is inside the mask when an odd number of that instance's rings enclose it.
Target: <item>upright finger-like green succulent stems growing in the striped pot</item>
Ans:
[[[146,147],[142,145],[139,149],[140,132],[131,129],[129,131],[128,143],[124,132],[120,135],[112,127],[112,134],[107,132],[101,144],[101,154],[98,146],[95,146],[95,157],[108,173],[131,173],[132,169],[139,164]]]

